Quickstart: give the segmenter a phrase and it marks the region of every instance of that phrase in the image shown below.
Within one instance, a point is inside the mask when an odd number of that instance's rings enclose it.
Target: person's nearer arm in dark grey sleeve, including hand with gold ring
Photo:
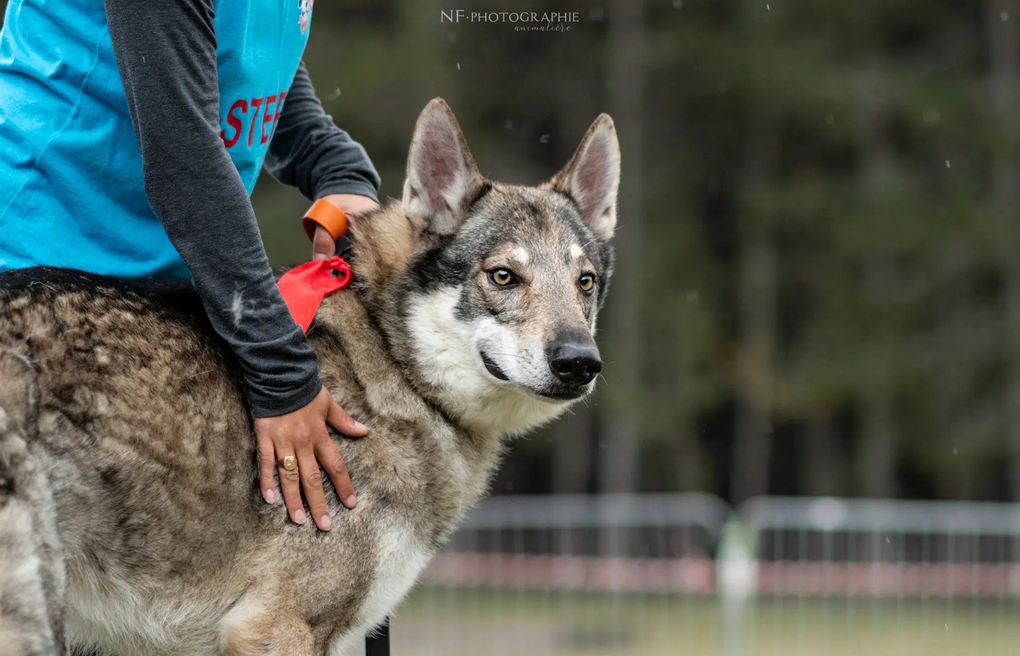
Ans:
[[[345,503],[354,490],[324,421],[328,415],[349,435],[364,427],[322,398],[315,352],[279,295],[251,201],[219,136],[212,0],[105,0],[105,7],[146,197],[240,363],[263,472],[296,455],[299,470],[280,471],[291,516],[304,521],[303,482],[316,524],[327,528],[321,485],[316,490],[306,478],[318,477],[315,455]],[[264,478],[262,490],[271,501]]]

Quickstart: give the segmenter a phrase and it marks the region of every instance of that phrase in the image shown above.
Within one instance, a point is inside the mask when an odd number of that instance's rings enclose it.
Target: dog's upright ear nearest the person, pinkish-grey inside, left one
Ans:
[[[404,210],[439,234],[460,227],[484,179],[450,106],[436,98],[421,110],[411,139],[404,181]]]

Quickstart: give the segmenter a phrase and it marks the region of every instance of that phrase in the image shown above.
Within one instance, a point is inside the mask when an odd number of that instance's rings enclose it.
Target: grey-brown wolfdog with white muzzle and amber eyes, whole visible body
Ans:
[[[308,333],[370,428],[332,433],[358,503],[327,484],[329,532],[263,501],[237,363],[190,285],[0,276],[0,653],[347,653],[506,438],[592,392],[619,162],[603,114],[551,180],[500,184],[425,107],[403,198],[353,221],[355,279]]]

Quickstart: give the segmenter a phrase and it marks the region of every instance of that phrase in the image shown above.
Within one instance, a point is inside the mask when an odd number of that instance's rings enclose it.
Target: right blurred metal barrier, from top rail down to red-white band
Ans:
[[[1017,504],[762,497],[738,516],[759,594],[1020,594]]]

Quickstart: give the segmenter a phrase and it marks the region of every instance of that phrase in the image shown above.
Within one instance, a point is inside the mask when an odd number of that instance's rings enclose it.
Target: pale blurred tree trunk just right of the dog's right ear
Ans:
[[[612,341],[606,362],[600,426],[599,489],[633,492],[638,489],[640,434],[636,423],[641,398],[642,194],[643,124],[645,110],[645,2],[613,0],[608,5],[608,102],[622,153],[622,179],[614,242],[616,271],[609,293],[605,325]],[[607,397],[606,391],[609,396]],[[624,555],[626,534],[605,531],[600,551]]]

